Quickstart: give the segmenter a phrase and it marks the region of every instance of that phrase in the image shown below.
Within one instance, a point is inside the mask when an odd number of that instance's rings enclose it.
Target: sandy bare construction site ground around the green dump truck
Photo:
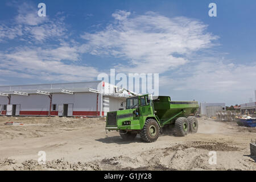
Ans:
[[[198,119],[196,134],[175,137],[167,127],[145,143],[139,135],[124,141],[117,131],[106,134],[105,118],[0,117],[0,170],[256,170],[256,128]],[[39,151],[46,164],[38,164]]]

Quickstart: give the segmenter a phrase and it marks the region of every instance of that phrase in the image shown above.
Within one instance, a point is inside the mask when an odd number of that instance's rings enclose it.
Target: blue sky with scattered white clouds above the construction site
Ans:
[[[37,15],[46,3],[46,18]],[[217,17],[208,5],[217,5]],[[173,100],[241,104],[256,77],[255,1],[1,1],[0,85],[159,73]]]

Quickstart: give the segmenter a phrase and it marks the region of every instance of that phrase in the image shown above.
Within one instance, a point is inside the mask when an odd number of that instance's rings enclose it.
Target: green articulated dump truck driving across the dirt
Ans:
[[[196,101],[171,101],[169,96],[153,100],[148,94],[126,99],[126,109],[108,112],[106,131],[119,131],[123,139],[134,139],[137,134],[145,142],[155,142],[166,125],[175,128],[175,134],[183,137],[196,133],[195,115],[199,108]]]

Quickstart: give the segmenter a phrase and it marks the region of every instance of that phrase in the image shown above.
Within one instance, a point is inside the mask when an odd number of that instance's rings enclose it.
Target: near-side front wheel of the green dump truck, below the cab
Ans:
[[[159,137],[159,133],[160,127],[158,122],[155,119],[147,119],[139,134],[145,142],[155,142]]]

